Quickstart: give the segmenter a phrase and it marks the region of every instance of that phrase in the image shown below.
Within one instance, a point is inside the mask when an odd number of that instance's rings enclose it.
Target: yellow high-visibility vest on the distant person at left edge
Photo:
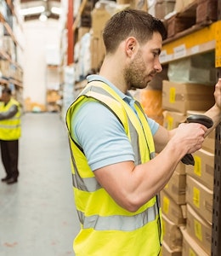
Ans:
[[[13,141],[20,138],[20,103],[13,98],[10,99],[8,104],[4,106],[4,103],[0,103],[0,112],[7,112],[13,105],[18,107],[18,112],[9,119],[0,120],[0,139],[4,141]]]

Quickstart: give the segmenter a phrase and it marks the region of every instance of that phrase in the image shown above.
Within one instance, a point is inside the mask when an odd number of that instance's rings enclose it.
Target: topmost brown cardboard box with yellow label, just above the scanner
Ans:
[[[214,88],[203,84],[178,84],[167,80],[162,84],[162,108],[186,113],[207,110],[215,103]]]

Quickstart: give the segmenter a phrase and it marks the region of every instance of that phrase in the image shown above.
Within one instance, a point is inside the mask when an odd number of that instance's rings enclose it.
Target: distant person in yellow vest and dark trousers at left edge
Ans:
[[[18,158],[20,128],[20,103],[12,98],[11,90],[5,87],[0,102],[0,146],[6,177],[2,182],[13,184],[18,181]]]

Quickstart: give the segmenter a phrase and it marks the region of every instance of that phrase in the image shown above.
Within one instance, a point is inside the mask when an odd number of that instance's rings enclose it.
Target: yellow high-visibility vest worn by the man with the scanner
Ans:
[[[115,113],[133,145],[136,165],[149,161],[155,153],[150,127],[139,102],[135,102],[138,118],[110,86],[99,81],[88,83],[66,113],[73,191],[81,223],[81,230],[74,240],[74,251],[77,256],[159,255],[162,232],[161,208],[157,196],[137,212],[128,212],[117,205],[99,185],[82,148],[71,137],[72,114],[83,103],[90,101],[100,102]]]

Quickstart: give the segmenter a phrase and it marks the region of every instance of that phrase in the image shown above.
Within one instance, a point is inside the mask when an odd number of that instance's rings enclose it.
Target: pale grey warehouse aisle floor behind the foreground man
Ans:
[[[0,183],[0,255],[74,255],[79,224],[65,124],[58,113],[24,114],[19,167],[18,183]]]

